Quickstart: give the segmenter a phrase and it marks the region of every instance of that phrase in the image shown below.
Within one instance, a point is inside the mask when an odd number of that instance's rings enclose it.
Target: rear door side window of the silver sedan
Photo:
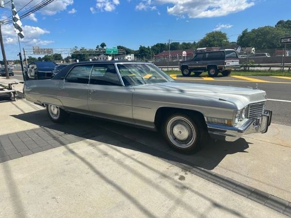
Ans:
[[[93,64],[77,65],[66,76],[67,82],[88,84]]]

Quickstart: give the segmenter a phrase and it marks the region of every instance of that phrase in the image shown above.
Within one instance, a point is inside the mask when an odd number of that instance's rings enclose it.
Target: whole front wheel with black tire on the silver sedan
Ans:
[[[191,154],[202,145],[205,129],[199,119],[185,114],[173,114],[163,124],[163,135],[169,145],[181,153]]]

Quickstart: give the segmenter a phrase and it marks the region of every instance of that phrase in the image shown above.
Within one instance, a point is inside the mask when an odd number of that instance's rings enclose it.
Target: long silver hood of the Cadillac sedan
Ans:
[[[252,88],[234,86],[207,85],[184,82],[164,82],[134,86],[136,92],[163,93],[180,97],[197,97],[232,103],[236,109],[242,109],[248,104],[266,101],[266,92]]]

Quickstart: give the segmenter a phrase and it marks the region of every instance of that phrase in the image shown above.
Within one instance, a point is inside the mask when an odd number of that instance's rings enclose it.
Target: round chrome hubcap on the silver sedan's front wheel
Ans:
[[[168,139],[179,148],[191,147],[196,140],[196,129],[192,122],[185,117],[171,118],[166,130]]]

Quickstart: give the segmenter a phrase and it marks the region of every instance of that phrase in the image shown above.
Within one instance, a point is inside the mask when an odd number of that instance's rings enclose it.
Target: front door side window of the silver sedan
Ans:
[[[114,64],[95,64],[92,69],[90,84],[121,86]]]

